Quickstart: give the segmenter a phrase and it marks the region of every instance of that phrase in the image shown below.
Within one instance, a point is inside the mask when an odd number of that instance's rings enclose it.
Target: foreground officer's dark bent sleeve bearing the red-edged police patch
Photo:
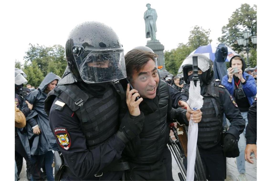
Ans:
[[[59,98],[56,100],[63,102]],[[81,122],[76,114],[67,105],[61,111],[57,110],[58,105],[54,103],[49,115],[50,127],[56,138],[58,148],[64,156],[65,164],[69,166],[75,176],[82,180],[88,180],[90,177],[94,177],[94,174],[103,171],[104,167],[121,158],[125,143],[118,137],[120,134],[118,136],[114,134],[98,147],[88,150],[86,138],[81,129]],[[137,118],[144,119],[143,113]],[[135,121],[137,118],[133,117]],[[126,114],[122,118],[123,120],[125,122],[132,121],[129,114]],[[58,132],[61,129],[67,130],[68,145],[61,145],[62,142],[59,139],[61,132]],[[120,133],[120,131],[117,133]]]

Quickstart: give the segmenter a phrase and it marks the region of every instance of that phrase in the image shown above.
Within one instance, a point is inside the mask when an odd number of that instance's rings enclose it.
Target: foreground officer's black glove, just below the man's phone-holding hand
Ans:
[[[126,119],[127,118],[127,119]],[[126,113],[120,124],[117,136],[122,139],[124,143],[139,135],[144,125],[144,113],[141,112],[139,116],[132,116]]]

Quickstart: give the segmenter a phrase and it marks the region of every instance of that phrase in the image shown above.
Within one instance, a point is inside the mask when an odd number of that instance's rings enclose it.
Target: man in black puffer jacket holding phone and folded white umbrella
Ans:
[[[200,110],[172,108],[168,84],[159,78],[155,57],[154,53],[137,49],[125,55],[127,77],[137,91],[134,96],[143,99],[139,108],[145,116],[141,133],[127,144],[122,154],[130,163],[130,169],[125,171],[126,180],[173,180],[171,154],[164,159],[169,152],[169,123],[176,119],[188,124],[191,114],[195,122],[202,118]],[[128,92],[129,84],[120,83]]]

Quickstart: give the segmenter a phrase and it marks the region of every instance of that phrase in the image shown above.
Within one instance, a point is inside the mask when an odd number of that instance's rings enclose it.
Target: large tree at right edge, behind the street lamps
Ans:
[[[245,53],[245,49],[241,48],[237,39],[243,37],[243,31],[249,30],[251,32],[250,37],[257,36],[257,6],[253,5],[250,7],[249,4],[241,4],[241,7],[233,12],[231,17],[228,19],[228,24],[222,27],[222,36],[218,38],[218,41],[225,43],[226,45],[232,47],[232,49],[237,52]],[[254,50],[250,51],[249,61],[251,66],[256,66],[257,63],[257,53],[256,45],[254,46],[249,39],[249,48]],[[245,56],[246,57],[246,56]],[[246,58],[245,58],[246,60]]]

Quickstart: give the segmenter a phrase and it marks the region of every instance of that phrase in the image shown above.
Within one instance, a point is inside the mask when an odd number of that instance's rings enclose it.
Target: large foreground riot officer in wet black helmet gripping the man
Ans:
[[[119,180],[128,169],[119,162],[125,143],[141,132],[144,122],[138,107],[143,99],[135,101],[135,90],[126,92],[130,106],[119,119],[122,99],[112,81],[126,78],[123,47],[112,28],[85,22],[71,31],[65,52],[70,72],[45,101],[64,157],[63,173],[55,175],[62,180]]]

